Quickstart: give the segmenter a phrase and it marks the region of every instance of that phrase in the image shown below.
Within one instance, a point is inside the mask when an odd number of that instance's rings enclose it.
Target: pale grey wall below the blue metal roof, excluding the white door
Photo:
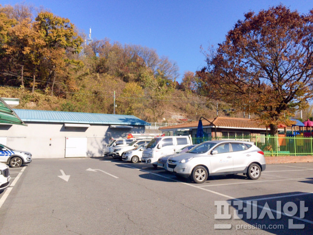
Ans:
[[[64,158],[66,137],[87,137],[87,156],[99,157],[103,156],[104,146],[111,137],[145,133],[144,126],[129,129],[91,124],[89,128],[65,128],[63,123],[25,123],[27,127],[0,125],[0,137],[6,137],[8,147],[29,151],[33,158]]]

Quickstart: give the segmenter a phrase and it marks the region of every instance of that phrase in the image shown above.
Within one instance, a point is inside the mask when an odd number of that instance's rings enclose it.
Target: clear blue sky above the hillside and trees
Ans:
[[[0,4],[21,3],[1,0]],[[248,11],[259,12],[280,2],[307,14],[312,0],[24,0],[43,6],[57,16],[68,18],[93,39],[140,44],[154,48],[185,71],[205,66],[204,49],[224,41],[227,32]]]

